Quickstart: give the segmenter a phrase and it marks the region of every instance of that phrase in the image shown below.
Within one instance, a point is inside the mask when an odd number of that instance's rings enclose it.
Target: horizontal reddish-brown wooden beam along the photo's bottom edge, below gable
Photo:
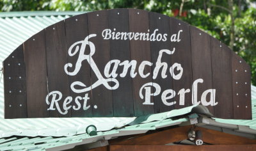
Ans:
[[[109,151],[159,151],[159,150],[172,150],[172,151],[221,151],[221,150],[256,150],[256,145],[110,145]]]

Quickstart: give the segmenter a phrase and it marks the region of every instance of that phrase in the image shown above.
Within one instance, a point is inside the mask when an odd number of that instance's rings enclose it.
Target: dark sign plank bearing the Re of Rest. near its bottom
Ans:
[[[71,111],[65,113],[63,109],[64,100],[70,95],[69,94],[69,83],[68,75],[65,73],[64,66],[67,64],[67,50],[66,50],[66,37],[65,37],[65,23],[64,21],[58,22],[45,28],[45,48],[47,57],[47,77],[48,77],[48,90],[49,93],[52,91],[60,91],[62,93],[61,100],[58,101],[60,111],[56,108],[55,110],[49,110],[50,117],[70,117]],[[51,100],[52,95],[49,97]],[[59,99],[59,95],[56,99]],[[69,107],[70,104],[67,104]]]

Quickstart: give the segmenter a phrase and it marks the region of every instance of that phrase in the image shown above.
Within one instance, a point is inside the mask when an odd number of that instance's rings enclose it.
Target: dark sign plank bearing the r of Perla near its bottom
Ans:
[[[173,79],[173,88],[176,92],[175,109],[191,106],[192,98],[192,61],[190,45],[190,29],[186,22],[171,18],[171,35],[176,35],[176,42],[172,42],[175,52],[172,54],[172,64],[179,63],[183,68],[182,77],[179,80]],[[179,74],[180,71],[175,68],[173,74]]]

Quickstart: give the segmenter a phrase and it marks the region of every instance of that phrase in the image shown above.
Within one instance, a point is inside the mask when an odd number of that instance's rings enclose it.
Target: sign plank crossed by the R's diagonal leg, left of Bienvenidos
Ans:
[[[108,29],[108,10],[88,13],[88,33],[97,35],[93,38],[90,38],[90,42],[95,45],[95,53],[93,54],[92,58],[97,65],[97,68],[99,69],[102,77],[104,77],[105,65],[110,60],[109,40],[103,40],[102,38],[102,31],[104,29]],[[99,80],[93,70],[96,70],[96,68],[92,67],[92,84]],[[109,86],[112,86],[113,83],[110,81],[108,84]],[[109,90],[103,84],[93,88],[92,102],[93,116],[113,116],[112,90]]]

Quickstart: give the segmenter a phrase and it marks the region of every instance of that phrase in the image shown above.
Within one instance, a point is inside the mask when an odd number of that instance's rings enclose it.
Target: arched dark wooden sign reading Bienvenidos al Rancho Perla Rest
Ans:
[[[159,13],[70,17],[3,62],[5,118],[142,116],[202,104],[252,119],[250,67],[204,31]]]

